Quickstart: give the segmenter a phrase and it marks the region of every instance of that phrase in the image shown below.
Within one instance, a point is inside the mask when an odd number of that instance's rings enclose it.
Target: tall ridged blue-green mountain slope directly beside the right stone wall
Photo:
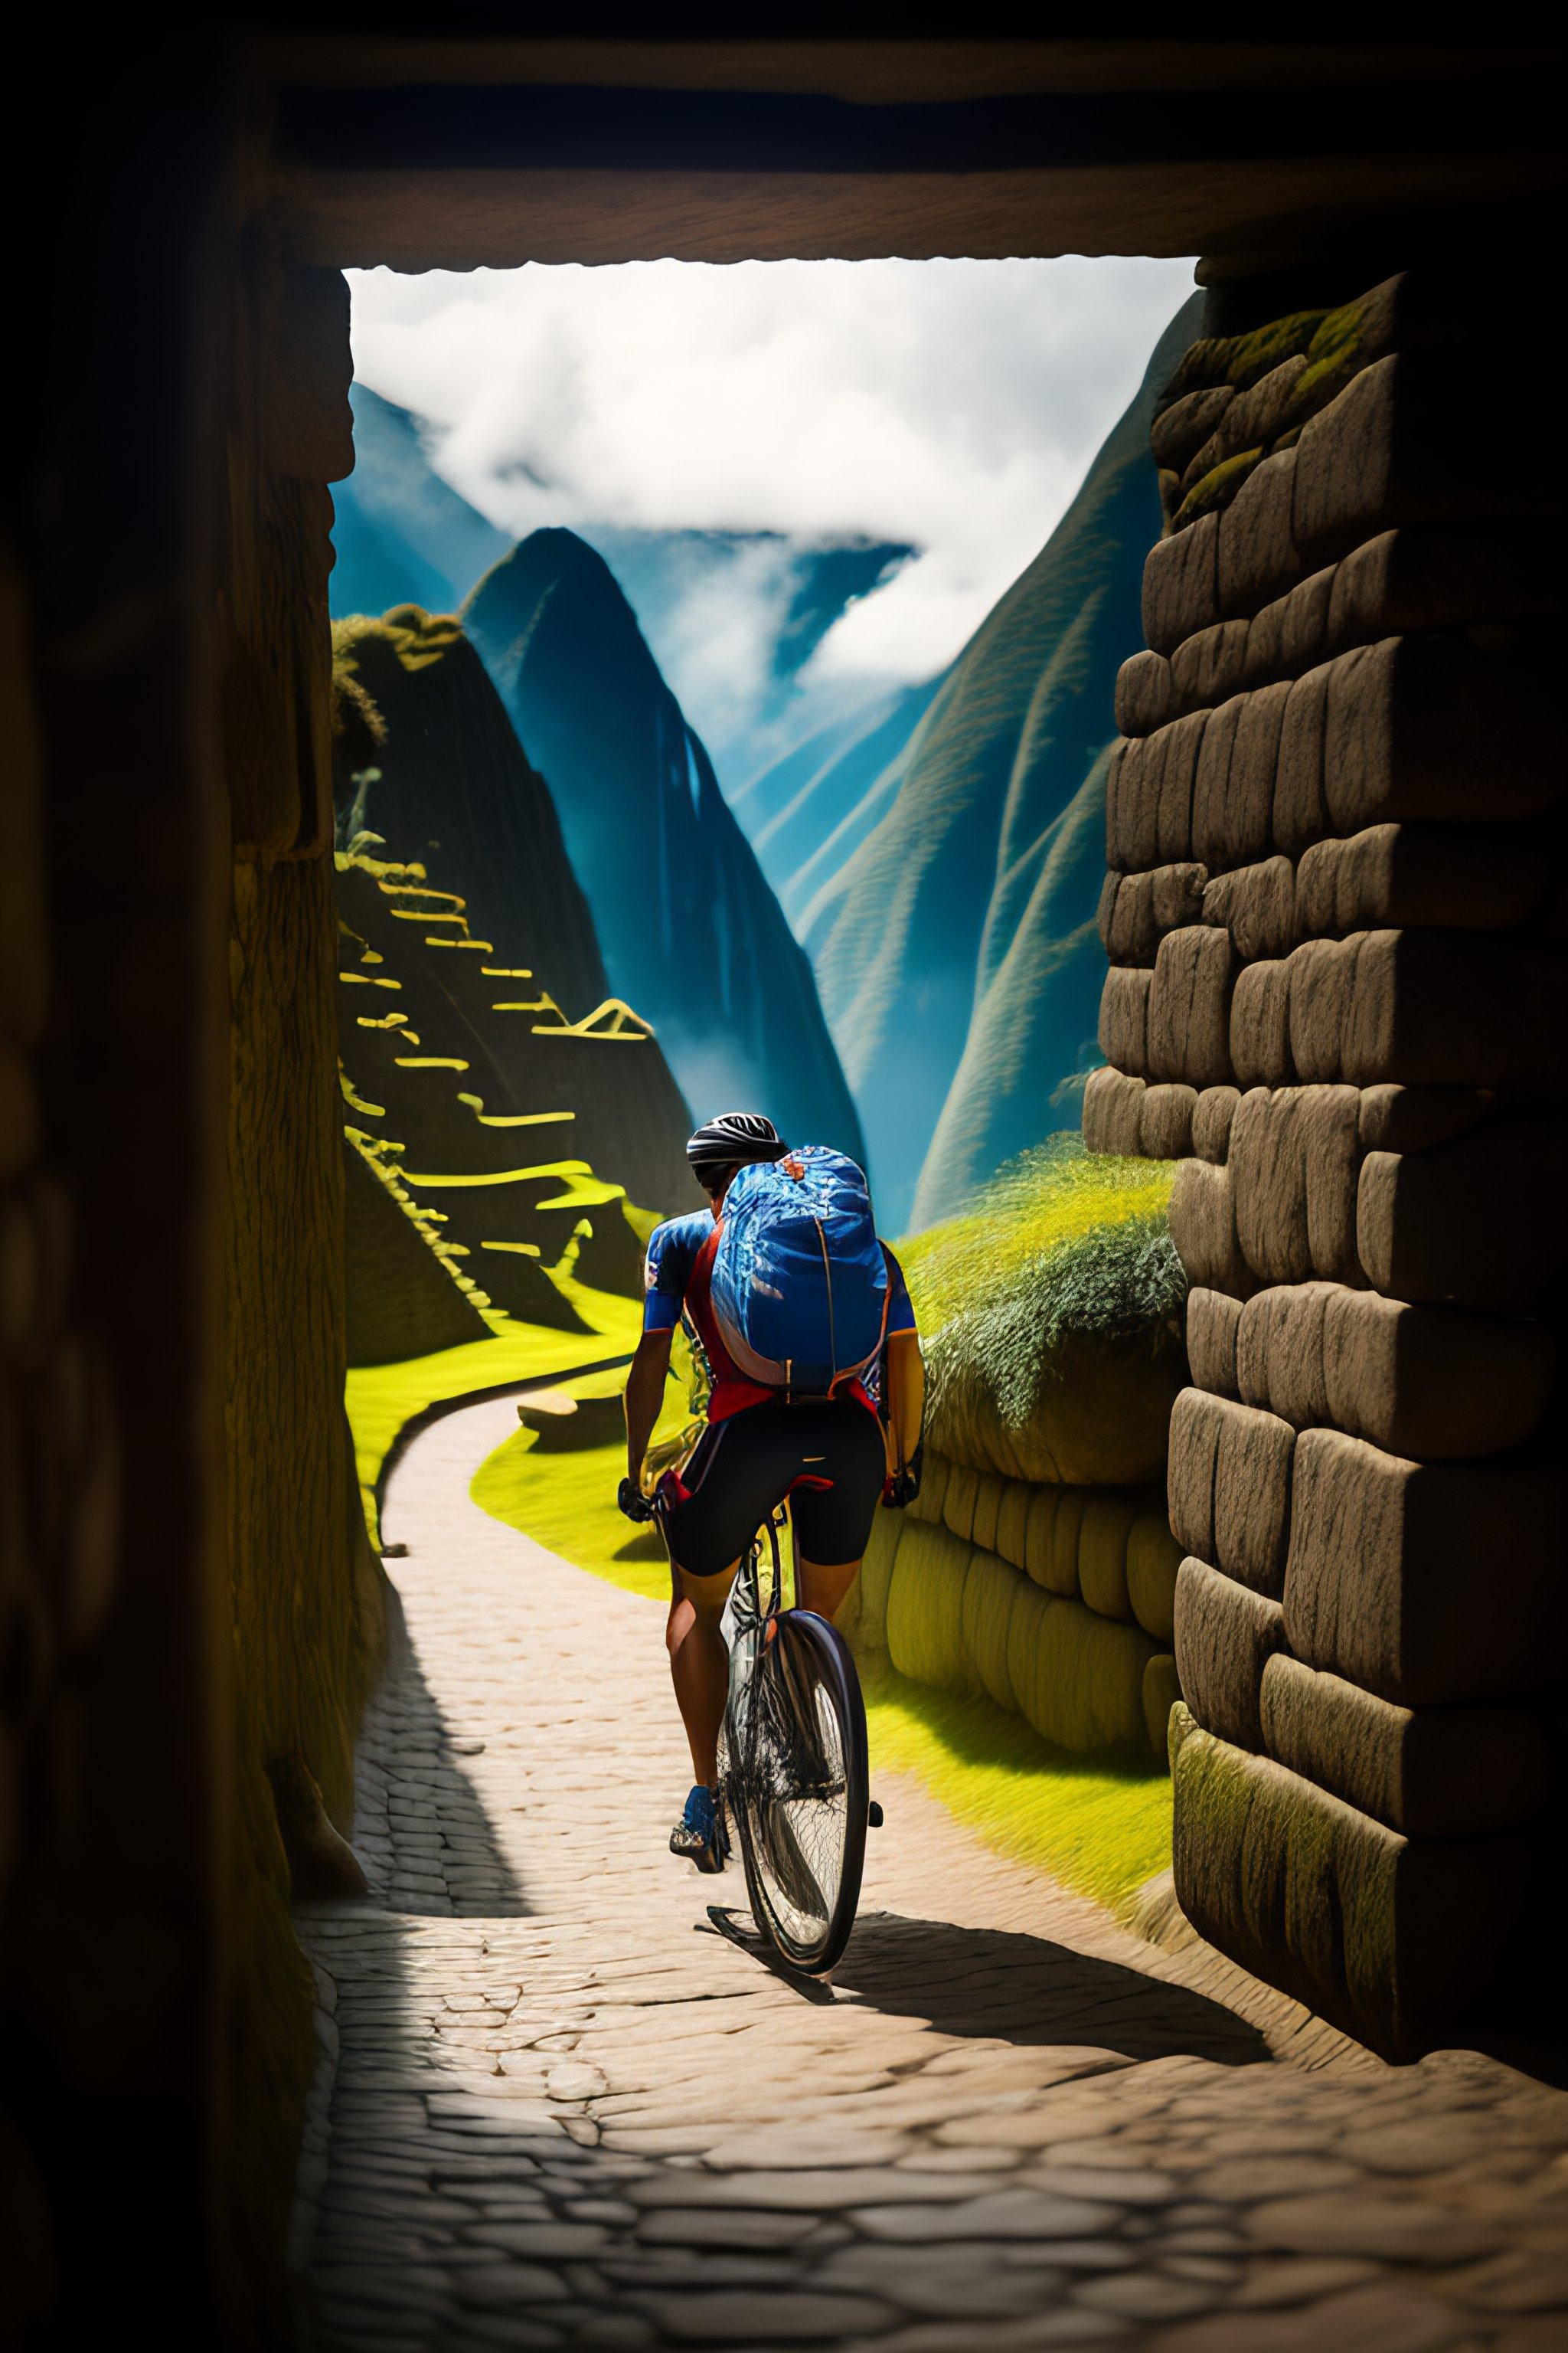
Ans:
[[[1161,525],[1150,419],[1197,301],[903,748],[851,779],[882,814],[797,915],[893,1228],[1077,1125],[1098,1061],[1103,755]]]

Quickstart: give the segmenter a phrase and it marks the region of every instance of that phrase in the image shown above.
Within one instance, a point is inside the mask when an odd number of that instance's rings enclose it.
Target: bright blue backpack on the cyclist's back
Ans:
[[[863,1374],[889,1315],[863,1169],[825,1144],[743,1167],[724,1195],[708,1297],[748,1381],[827,1398]]]

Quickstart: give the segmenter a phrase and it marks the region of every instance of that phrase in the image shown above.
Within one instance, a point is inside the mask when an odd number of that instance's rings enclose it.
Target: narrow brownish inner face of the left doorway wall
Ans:
[[[353,468],[348,285],[256,238],[226,344],[219,598],[228,793],[226,1506],[235,1812],[235,2202],[280,2235],[315,2064],[292,1897],[353,1897],[355,1732],[386,1642],[343,1409],[343,1101],[329,482]],[[261,2226],[261,2228],[256,2228]]]

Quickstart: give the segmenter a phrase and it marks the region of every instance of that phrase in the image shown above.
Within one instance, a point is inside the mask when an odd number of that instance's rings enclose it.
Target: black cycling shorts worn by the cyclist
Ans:
[[[686,1494],[663,1513],[670,1560],[717,1577],[790,1497],[802,1560],[844,1567],[865,1551],[884,1480],[882,1424],[858,1398],[748,1405],[698,1438]]]

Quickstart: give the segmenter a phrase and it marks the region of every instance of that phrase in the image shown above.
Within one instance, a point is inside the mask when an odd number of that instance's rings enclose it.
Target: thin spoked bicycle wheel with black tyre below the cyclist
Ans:
[[[752,1918],[797,1969],[844,1953],[865,1868],[865,1701],[844,1635],[773,1621],[731,1734],[731,1802]]]

